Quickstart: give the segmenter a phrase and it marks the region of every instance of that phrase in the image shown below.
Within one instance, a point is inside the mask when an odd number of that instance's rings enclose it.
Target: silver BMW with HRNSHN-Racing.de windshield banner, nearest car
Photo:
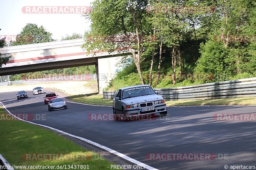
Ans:
[[[149,85],[136,85],[119,89],[113,99],[115,120],[134,120],[134,117],[160,113],[167,115],[164,98]],[[131,119],[132,118],[132,119]]]

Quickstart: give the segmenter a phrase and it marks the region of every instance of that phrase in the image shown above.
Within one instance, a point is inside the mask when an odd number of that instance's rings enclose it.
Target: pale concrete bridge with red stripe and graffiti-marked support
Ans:
[[[103,88],[115,77],[116,70],[120,69],[118,63],[121,56],[130,55],[131,52],[123,48],[112,53],[88,53],[81,48],[83,44],[84,39],[81,38],[1,48],[1,57],[12,57],[0,69],[0,76],[95,65],[99,92],[102,93]]]

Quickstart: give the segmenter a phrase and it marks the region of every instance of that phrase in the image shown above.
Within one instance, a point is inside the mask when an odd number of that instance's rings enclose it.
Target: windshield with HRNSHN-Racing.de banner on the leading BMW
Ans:
[[[122,99],[151,95],[151,94],[156,94],[156,92],[149,86],[134,87],[134,88],[123,90]]]

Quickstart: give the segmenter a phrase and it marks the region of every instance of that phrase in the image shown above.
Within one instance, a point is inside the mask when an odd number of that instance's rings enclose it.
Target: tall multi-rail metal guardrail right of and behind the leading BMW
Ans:
[[[256,97],[256,78],[244,78],[201,85],[173,87],[161,90],[165,100],[205,100]],[[103,91],[103,98],[113,99],[115,92]]]

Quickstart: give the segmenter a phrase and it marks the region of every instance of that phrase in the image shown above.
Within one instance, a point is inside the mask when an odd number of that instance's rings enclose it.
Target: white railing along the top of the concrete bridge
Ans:
[[[80,46],[83,44],[84,44],[84,38],[73,39],[73,40],[63,40],[63,41],[51,41],[51,42],[43,42],[43,43],[36,43],[36,44],[6,46],[4,48],[0,48],[0,53],[2,54],[19,53],[19,52],[34,51],[34,50]]]

